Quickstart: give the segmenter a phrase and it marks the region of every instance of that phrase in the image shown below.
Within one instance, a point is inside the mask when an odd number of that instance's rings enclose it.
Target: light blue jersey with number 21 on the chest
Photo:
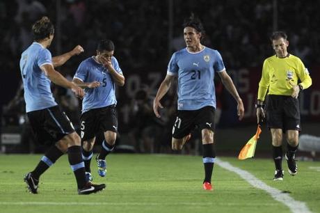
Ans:
[[[168,75],[178,78],[178,110],[216,108],[214,73],[225,70],[221,54],[205,47],[197,53],[186,48],[173,54],[168,64]]]

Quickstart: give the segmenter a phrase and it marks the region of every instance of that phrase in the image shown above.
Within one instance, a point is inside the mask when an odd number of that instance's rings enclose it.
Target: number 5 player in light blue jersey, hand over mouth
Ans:
[[[104,132],[102,148],[96,157],[98,174],[101,177],[106,175],[106,155],[113,150],[117,136],[115,84],[125,85],[125,77],[113,53],[113,42],[100,40],[97,55],[82,61],[73,79],[75,84],[86,91],[82,102],[81,139],[88,181],[93,180],[90,161],[97,134]]]

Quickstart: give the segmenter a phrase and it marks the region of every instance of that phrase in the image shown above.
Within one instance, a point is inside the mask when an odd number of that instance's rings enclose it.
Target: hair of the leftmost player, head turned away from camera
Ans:
[[[32,25],[32,33],[35,41],[48,38],[54,34],[54,24],[51,23],[47,16],[44,16]]]

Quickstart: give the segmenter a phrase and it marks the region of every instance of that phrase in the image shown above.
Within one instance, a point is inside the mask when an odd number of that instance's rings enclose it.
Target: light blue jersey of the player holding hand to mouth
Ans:
[[[111,63],[115,71],[122,74],[122,70],[120,69],[115,57],[111,58]],[[74,74],[74,78],[85,83],[93,81],[100,82],[100,86],[97,88],[85,89],[85,95],[82,101],[82,113],[89,111],[90,109],[97,109],[117,104],[113,77],[109,74],[104,65],[95,61],[94,56],[81,62],[76,74]]]

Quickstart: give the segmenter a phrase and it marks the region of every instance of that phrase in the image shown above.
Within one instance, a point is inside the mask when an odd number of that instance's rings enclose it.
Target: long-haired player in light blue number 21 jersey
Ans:
[[[191,130],[201,129],[203,164],[205,180],[203,189],[212,190],[211,175],[214,168],[216,152],[214,150],[214,112],[216,109],[216,93],[214,76],[217,73],[234,99],[237,101],[238,116],[243,118],[243,103],[232,79],[225,71],[225,65],[218,51],[201,44],[204,29],[200,19],[191,15],[184,22],[184,41],[186,48],[173,54],[168,64],[166,78],[162,81],[153,109],[160,118],[159,108],[163,108],[160,100],[166,95],[173,80],[177,77],[177,119],[173,126],[173,150],[181,150],[191,137]]]

